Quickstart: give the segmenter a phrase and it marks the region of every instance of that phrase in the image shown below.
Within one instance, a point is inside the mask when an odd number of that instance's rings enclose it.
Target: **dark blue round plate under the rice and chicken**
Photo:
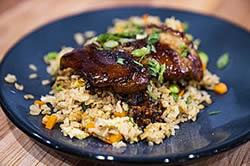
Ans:
[[[62,46],[77,47],[73,34],[86,30],[105,32],[114,18],[148,13],[164,19],[175,16],[190,25],[189,32],[201,39],[201,50],[209,55],[208,68],[218,74],[229,87],[226,95],[212,93],[214,103],[203,110],[196,122],[187,122],[177,130],[176,136],[163,144],[148,146],[146,142],[114,149],[97,139],[83,141],[64,137],[59,128],[47,130],[41,117],[29,115],[32,101],[23,99],[26,93],[36,99],[47,94],[49,87],[41,80],[50,78],[46,73],[43,55],[59,51]],[[224,70],[215,66],[216,59],[224,52],[230,63]],[[4,112],[23,132],[35,140],[59,151],[98,160],[119,162],[178,163],[230,149],[250,138],[250,33],[225,21],[201,14],[149,7],[107,9],[82,13],[45,25],[20,40],[1,62],[0,99]],[[28,64],[38,66],[39,79],[30,81]],[[7,73],[17,76],[25,87],[23,92],[4,82]],[[221,113],[209,116],[209,111]]]

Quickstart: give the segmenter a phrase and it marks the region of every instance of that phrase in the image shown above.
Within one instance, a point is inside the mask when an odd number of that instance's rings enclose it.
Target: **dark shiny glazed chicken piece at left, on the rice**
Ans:
[[[118,60],[122,63],[117,63]],[[132,94],[147,88],[150,75],[127,53],[100,50],[91,44],[61,58],[61,69],[72,68],[93,87],[112,89],[116,93]]]

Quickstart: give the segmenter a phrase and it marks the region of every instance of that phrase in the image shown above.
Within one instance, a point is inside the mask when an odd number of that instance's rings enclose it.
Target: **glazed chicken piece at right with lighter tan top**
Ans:
[[[201,81],[203,77],[201,60],[197,51],[193,48],[193,43],[186,38],[183,32],[175,31],[166,26],[150,25],[146,28],[148,28],[146,31],[150,31],[151,28],[158,28],[163,32],[160,33],[160,41],[155,45],[156,52],[145,56],[141,62],[143,65],[147,65],[149,60],[154,58],[161,65],[165,64],[165,80]],[[183,51],[183,48],[180,48],[181,45],[186,47],[185,57],[181,55]],[[131,54],[133,50],[146,46],[147,40],[142,39],[121,45],[118,50]]]

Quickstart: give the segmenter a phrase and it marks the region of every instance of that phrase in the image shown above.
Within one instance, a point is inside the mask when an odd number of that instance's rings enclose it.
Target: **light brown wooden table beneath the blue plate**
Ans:
[[[82,11],[126,5],[147,5],[191,10],[229,20],[250,30],[249,0],[4,0],[0,1],[0,59],[33,29]],[[250,142],[193,165],[250,165]],[[59,155],[40,147],[17,129],[0,111],[0,165],[98,165]]]

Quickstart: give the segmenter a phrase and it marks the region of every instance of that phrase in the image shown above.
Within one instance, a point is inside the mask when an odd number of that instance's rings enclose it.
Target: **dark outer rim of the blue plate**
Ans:
[[[212,19],[215,19],[215,20],[219,20],[223,23],[226,23],[230,26],[233,26],[234,28],[236,28],[237,30],[241,30],[241,31],[244,31],[245,33],[249,34],[250,36],[250,33],[247,29],[239,26],[238,24],[235,24],[229,20],[224,20],[220,17],[217,17],[217,16],[214,16],[214,15],[211,15],[211,14],[204,14],[204,13],[199,13],[199,12],[194,12],[194,11],[187,11],[187,10],[182,10],[182,9],[175,9],[175,8],[168,8],[168,7],[151,7],[151,6],[147,6],[147,5],[128,5],[128,6],[116,6],[116,7],[107,7],[107,8],[99,8],[99,9],[91,9],[91,10],[87,10],[87,11],[83,11],[83,12],[80,12],[80,13],[77,13],[77,14],[72,14],[72,15],[68,15],[68,16],[65,16],[65,17],[62,17],[62,18],[59,18],[59,19],[55,19],[55,20],[52,20],[52,21],[49,21],[48,23],[45,23],[43,24],[42,26],[39,26],[35,29],[33,29],[32,31],[24,34],[19,40],[17,40],[16,42],[14,42],[12,44],[12,46],[8,49],[8,51],[6,53],[4,53],[4,56],[2,58],[2,60],[0,61],[0,72],[2,71],[2,64],[6,61],[6,57],[7,55],[9,55],[9,53],[11,52],[12,49],[14,49],[15,47],[18,46],[19,43],[22,42],[22,40],[24,40],[25,38],[31,36],[32,34],[36,33],[37,31],[51,25],[51,24],[54,24],[55,22],[60,22],[60,21],[64,21],[64,20],[67,20],[67,19],[71,19],[72,17],[78,17],[78,16],[81,16],[83,14],[92,14],[92,13],[95,13],[95,12],[102,12],[102,11],[110,11],[110,10],[117,10],[117,9],[159,9],[159,10],[168,10],[168,11],[175,11],[175,12],[181,12],[181,13],[187,13],[187,14],[193,14],[193,15],[199,15],[199,16],[202,16],[202,17],[208,17],[208,18],[212,18]],[[0,73],[1,74],[1,73]],[[22,132],[24,132],[27,136],[29,136],[30,138],[32,139],[35,139],[36,141],[42,143],[43,145],[46,145],[58,152],[63,152],[65,154],[73,154],[73,155],[76,155],[78,157],[84,157],[86,159],[92,159],[92,160],[99,160],[99,161],[111,161],[109,160],[107,157],[110,156],[110,155],[102,155],[104,156],[105,158],[104,159],[98,159],[97,156],[98,153],[95,152],[88,152],[88,151],[84,151],[79,153],[79,152],[75,152],[75,151],[72,151],[70,150],[70,147],[68,146],[58,146],[56,145],[55,143],[53,143],[53,141],[51,141],[49,138],[47,138],[46,136],[43,136],[41,134],[39,134],[39,132],[36,132],[35,130],[29,128],[28,125],[21,125],[21,123],[19,122],[19,119],[15,118],[12,114],[11,114],[11,111],[9,111],[8,109],[8,106],[6,104],[7,102],[4,101],[4,98],[3,98],[3,93],[2,91],[0,91],[0,106],[2,107],[2,110],[3,112],[5,113],[5,115],[7,115],[7,117],[9,118],[9,120],[17,127],[19,128]],[[217,153],[221,153],[221,152],[224,152],[224,151],[227,151],[229,149],[232,149],[236,146],[239,146],[243,143],[246,143],[250,140],[250,131],[246,131],[244,134],[242,134],[241,136],[237,137],[236,139],[232,140],[231,142],[226,142],[224,144],[221,144],[220,146],[216,146],[216,147],[209,147],[207,148],[206,150],[196,150],[194,153],[192,153],[192,157],[190,157],[190,153],[182,153],[182,154],[178,154],[178,155],[168,155],[166,157],[163,157],[164,155],[162,156],[153,156],[153,157],[143,157],[142,156],[134,156],[134,157],[122,157],[122,156],[117,156],[117,155],[111,155],[113,157],[113,160],[112,161],[115,161],[115,162],[122,162],[122,163],[143,163],[143,162],[148,162],[148,163],[164,163],[165,164],[177,164],[177,163],[183,163],[183,162],[186,162],[186,161],[190,161],[190,160],[194,160],[194,159],[198,159],[198,158],[205,158],[205,157],[208,157],[208,156],[212,156],[214,154],[217,154]],[[50,143],[48,143],[50,142]],[[165,160],[164,160],[165,158]]]

